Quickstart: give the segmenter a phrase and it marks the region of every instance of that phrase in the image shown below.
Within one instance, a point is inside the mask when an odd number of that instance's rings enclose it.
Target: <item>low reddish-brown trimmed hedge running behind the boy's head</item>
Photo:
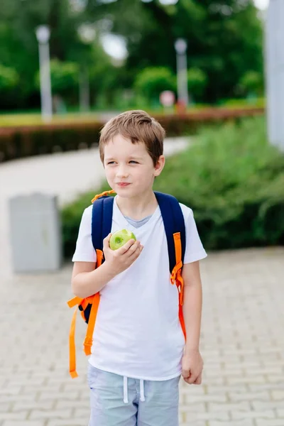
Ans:
[[[238,121],[241,117],[263,114],[263,108],[211,108],[187,114],[155,114],[168,136],[194,134],[204,124]],[[0,127],[0,161],[31,155],[72,151],[96,146],[103,121],[82,121],[60,124]]]

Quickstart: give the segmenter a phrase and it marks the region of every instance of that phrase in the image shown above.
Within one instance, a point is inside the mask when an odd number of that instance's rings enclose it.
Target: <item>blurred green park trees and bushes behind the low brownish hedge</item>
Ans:
[[[180,38],[187,43],[191,106],[263,105],[262,9],[267,4],[268,0],[3,0],[1,113],[40,111],[35,33],[41,25],[50,31],[53,111],[58,114],[161,110],[160,92],[178,95],[175,44]]]

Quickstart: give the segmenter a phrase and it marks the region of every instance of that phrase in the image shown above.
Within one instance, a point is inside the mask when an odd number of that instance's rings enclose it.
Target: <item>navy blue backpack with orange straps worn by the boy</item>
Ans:
[[[96,195],[92,200],[92,244],[97,253],[96,268],[102,265],[104,261],[103,240],[111,232],[112,212],[114,206],[114,197],[109,197],[114,191],[106,191]],[[162,192],[154,192],[158,201],[160,212],[163,217],[165,226],[165,234],[168,242],[168,256],[170,265],[170,282],[177,285],[179,297],[179,319],[182,332],[185,334],[185,322],[182,315],[183,304],[183,280],[182,280],[182,264],[185,256],[185,221],[182,209],[178,200],[172,195],[163,194]],[[92,337],[94,325],[99,309],[99,293],[86,297],[73,297],[67,302],[69,307],[77,305],[81,312],[83,320],[87,323],[87,332],[84,339],[84,353],[91,355]],[[77,308],[72,317],[70,328],[69,344],[70,344],[70,376],[77,377],[76,372],[76,354],[75,354],[75,324],[76,324]]]

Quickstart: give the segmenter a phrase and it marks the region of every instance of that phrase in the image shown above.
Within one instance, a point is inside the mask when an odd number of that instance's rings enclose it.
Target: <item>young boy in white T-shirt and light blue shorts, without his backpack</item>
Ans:
[[[183,315],[170,283],[168,246],[153,192],[165,165],[165,131],[144,111],[126,111],[102,129],[99,150],[109,186],[116,192],[111,232],[136,235],[116,251],[104,239],[104,263],[95,269],[92,206],[84,210],[73,256],[72,291],[101,295],[88,382],[89,426],[178,426],[178,383],[199,385],[202,284],[205,258],[192,210],[180,204],[186,250]]]

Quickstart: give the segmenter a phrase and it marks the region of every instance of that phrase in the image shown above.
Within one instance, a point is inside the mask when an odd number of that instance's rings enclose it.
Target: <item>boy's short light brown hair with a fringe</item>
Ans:
[[[104,163],[104,146],[116,135],[130,139],[132,143],[143,142],[151,156],[154,165],[160,155],[163,155],[163,140],[165,129],[142,110],[123,112],[104,125],[99,138],[99,155]]]

